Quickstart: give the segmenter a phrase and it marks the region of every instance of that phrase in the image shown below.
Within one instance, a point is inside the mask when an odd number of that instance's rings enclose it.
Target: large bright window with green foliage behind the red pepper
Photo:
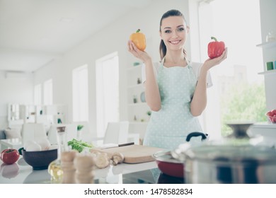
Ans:
[[[210,37],[228,47],[226,61],[211,69],[214,86],[209,88],[204,115],[207,133],[224,136],[231,132],[226,122],[265,121],[263,55],[258,0],[214,0],[199,4],[200,62],[207,59]],[[246,13],[246,14],[245,14]]]

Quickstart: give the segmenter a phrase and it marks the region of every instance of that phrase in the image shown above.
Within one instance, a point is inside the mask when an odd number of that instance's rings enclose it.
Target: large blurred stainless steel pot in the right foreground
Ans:
[[[276,149],[250,142],[243,136],[186,149],[180,155],[185,158],[185,182],[276,183]]]

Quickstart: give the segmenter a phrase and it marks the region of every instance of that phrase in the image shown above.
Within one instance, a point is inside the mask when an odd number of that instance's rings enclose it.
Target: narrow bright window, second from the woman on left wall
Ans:
[[[73,121],[88,121],[88,69],[79,66],[72,71],[73,76]]]

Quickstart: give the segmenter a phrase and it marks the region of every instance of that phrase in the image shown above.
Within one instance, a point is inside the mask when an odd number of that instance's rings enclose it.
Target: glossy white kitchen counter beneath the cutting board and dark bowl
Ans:
[[[0,162],[0,184],[51,184],[47,170],[33,170],[20,158],[13,165]],[[156,162],[110,165],[108,168],[96,169],[94,182],[98,184],[149,184],[149,183],[183,183],[183,179],[160,173]]]

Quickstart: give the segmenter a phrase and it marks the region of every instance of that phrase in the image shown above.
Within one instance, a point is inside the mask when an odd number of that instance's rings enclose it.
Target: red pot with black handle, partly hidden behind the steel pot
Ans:
[[[200,141],[205,141],[207,139],[207,134],[203,134],[202,132],[192,132],[188,134],[186,138],[187,146],[190,147],[191,144],[198,143],[197,141],[195,141],[195,143],[192,143],[191,141],[192,137],[196,136],[201,136]],[[183,178],[184,163],[179,158],[175,158],[174,156],[172,156],[171,151],[159,151],[154,153],[153,157],[157,163],[159,170],[161,170],[162,173],[173,177]]]

